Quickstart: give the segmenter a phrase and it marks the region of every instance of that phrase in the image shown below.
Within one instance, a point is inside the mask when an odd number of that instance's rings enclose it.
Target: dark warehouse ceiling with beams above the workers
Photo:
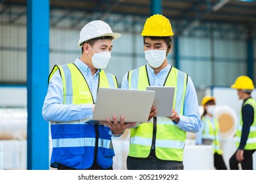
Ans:
[[[126,16],[137,17],[137,22],[145,22],[151,15],[152,3],[150,0],[51,0],[50,16],[51,27],[58,27],[65,19],[75,22],[88,20],[105,20],[117,16],[122,22]],[[256,1],[240,0],[162,0],[161,12],[164,16],[178,24],[177,29],[203,22],[242,24],[247,27],[256,27]],[[26,0],[0,0],[1,14],[12,12],[12,24],[21,16],[26,16]],[[23,12],[15,12],[12,7],[23,7]],[[62,10],[61,16],[53,16],[54,12]],[[140,20],[141,18],[141,20]],[[1,22],[0,22],[1,24]],[[75,25],[73,24],[74,28]]]

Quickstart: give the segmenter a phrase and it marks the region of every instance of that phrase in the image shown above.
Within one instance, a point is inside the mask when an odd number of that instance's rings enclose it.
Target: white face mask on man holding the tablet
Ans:
[[[146,50],[145,59],[147,59],[149,65],[153,68],[158,68],[164,63],[166,59],[166,50]]]

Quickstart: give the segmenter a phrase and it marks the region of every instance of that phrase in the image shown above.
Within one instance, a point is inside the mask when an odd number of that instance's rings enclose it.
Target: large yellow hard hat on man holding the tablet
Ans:
[[[161,14],[154,14],[147,18],[141,35],[168,37],[174,35],[174,33],[172,32],[172,25],[168,18]]]

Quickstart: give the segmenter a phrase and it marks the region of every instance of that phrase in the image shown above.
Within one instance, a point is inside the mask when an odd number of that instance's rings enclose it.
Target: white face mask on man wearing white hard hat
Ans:
[[[92,50],[92,52],[94,52],[94,50]],[[90,58],[92,58],[92,64],[96,69],[105,69],[107,67],[107,64],[109,63],[109,59],[111,58],[111,53],[98,52],[94,53],[94,55],[92,57],[90,56]]]

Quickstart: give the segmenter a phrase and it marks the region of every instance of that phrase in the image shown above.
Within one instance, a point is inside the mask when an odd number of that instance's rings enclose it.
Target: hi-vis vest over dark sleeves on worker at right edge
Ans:
[[[251,105],[253,107],[254,111],[254,118],[253,118],[253,124],[251,124],[248,139],[246,141],[246,146],[244,147],[244,150],[253,150],[256,149],[256,101],[253,98],[249,98],[244,102],[244,105]],[[242,135],[242,126],[243,126],[243,120],[242,120],[242,109],[240,110],[240,122],[238,124],[238,128],[236,131],[236,146],[238,147],[241,140]]]

